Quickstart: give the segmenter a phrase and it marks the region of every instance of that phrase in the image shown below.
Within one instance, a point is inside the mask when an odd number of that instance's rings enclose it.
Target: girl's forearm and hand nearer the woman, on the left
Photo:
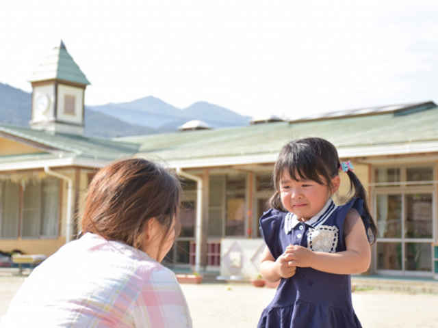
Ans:
[[[289,278],[295,274],[296,267],[289,264],[285,254],[281,254],[276,260],[268,247],[261,254],[260,273],[266,280],[276,282],[281,277]]]

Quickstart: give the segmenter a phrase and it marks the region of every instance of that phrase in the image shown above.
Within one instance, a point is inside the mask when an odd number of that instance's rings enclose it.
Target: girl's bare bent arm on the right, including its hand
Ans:
[[[346,251],[325,253],[289,245],[285,251],[286,259],[296,267],[311,267],[327,273],[348,275],[367,271],[371,262],[371,247],[365,226],[355,209],[350,210],[346,217],[345,234]]]

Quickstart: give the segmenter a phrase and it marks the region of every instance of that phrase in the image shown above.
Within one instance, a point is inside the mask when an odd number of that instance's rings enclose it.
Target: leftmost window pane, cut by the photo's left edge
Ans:
[[[0,236],[18,237],[19,187],[11,181],[0,182]]]

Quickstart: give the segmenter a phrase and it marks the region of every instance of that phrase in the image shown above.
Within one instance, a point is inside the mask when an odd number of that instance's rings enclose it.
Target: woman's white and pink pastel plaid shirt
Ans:
[[[172,271],[90,233],[34,270],[3,320],[2,327],[192,327]]]

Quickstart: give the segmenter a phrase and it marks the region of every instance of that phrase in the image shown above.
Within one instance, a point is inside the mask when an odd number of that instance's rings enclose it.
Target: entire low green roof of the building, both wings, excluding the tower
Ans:
[[[2,135],[18,141],[31,141],[37,148],[40,146],[42,152],[0,156],[0,163],[44,161],[53,156],[103,162],[141,156],[181,167],[195,167],[192,164],[196,161],[203,161],[207,166],[211,163],[233,165],[237,163],[235,159],[244,157],[249,161],[257,159],[258,163],[270,163],[285,143],[302,137],[328,139],[337,147],[340,156],[364,156],[364,150],[369,156],[385,156],[438,152],[438,107],[116,139],[47,133],[8,125],[0,125]],[[268,160],[263,162],[264,159]]]

